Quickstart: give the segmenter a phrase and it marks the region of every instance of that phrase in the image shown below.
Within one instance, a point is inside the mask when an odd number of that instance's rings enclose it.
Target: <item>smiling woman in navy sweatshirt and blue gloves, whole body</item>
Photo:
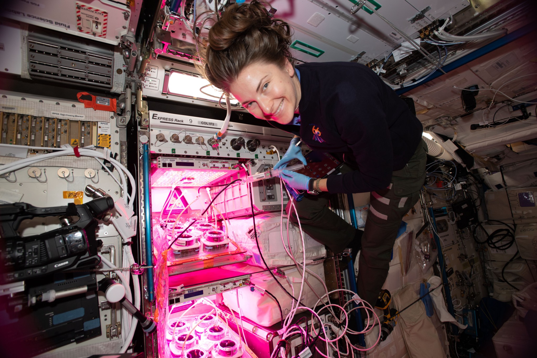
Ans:
[[[283,170],[301,227],[334,253],[351,247],[359,261],[358,293],[376,302],[388,274],[402,217],[418,201],[425,180],[423,127],[404,101],[368,67],[354,62],[293,65],[291,28],[272,17],[270,5],[229,6],[209,30],[202,73],[259,119],[295,137],[274,169],[293,160],[307,165],[300,143],[344,159],[342,174],[321,178]],[[299,140],[300,137],[300,140]],[[311,176],[311,177],[310,177]],[[304,193],[307,191],[307,193]],[[331,211],[328,193],[371,192],[365,232]],[[291,220],[297,222],[287,205]]]

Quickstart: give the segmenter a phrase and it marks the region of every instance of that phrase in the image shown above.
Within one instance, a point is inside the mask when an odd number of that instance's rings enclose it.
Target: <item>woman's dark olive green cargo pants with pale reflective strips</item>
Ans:
[[[358,265],[358,295],[373,305],[388,276],[391,250],[402,218],[419,200],[425,181],[426,144],[420,142],[415,154],[401,170],[394,171],[391,184],[370,194],[362,250]],[[302,229],[334,253],[342,252],[357,229],[326,207],[330,194],[306,195],[295,202]],[[291,206],[286,211],[291,215]],[[296,222],[293,212],[291,220]]]

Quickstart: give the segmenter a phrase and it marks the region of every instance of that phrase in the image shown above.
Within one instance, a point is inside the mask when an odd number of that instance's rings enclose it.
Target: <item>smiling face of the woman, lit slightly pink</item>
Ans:
[[[291,63],[255,62],[246,66],[229,91],[256,118],[287,125],[300,102],[300,82]]]

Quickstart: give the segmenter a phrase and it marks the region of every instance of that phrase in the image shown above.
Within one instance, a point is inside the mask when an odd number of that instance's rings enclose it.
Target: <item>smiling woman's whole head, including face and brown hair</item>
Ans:
[[[201,47],[205,78],[259,119],[287,125],[300,103],[289,45],[291,28],[265,4],[230,6]]]

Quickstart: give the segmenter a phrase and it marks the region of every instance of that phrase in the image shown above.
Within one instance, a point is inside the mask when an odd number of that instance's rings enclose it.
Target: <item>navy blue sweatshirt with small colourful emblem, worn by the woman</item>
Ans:
[[[365,65],[304,63],[300,71],[300,127],[274,127],[299,135],[313,150],[344,153],[355,170],[328,177],[330,193],[365,193],[386,188],[422,138],[422,123],[404,101]]]

